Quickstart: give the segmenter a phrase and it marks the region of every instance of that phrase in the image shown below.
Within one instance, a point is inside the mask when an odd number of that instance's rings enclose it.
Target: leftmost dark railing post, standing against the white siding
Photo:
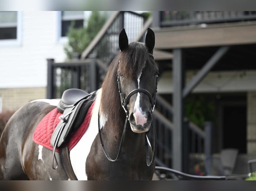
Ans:
[[[53,99],[53,63],[54,59],[47,59],[47,99]]]

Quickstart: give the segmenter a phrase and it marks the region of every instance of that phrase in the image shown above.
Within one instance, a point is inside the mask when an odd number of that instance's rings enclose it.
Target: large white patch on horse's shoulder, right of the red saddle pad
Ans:
[[[70,151],[71,164],[78,180],[87,180],[85,163],[91,150],[93,141],[98,134],[98,113],[100,108],[100,101],[101,89],[97,91],[96,102],[92,110],[90,124],[80,141]]]

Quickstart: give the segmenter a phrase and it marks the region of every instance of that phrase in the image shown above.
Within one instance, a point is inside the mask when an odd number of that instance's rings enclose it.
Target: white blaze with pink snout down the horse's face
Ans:
[[[140,88],[140,77],[142,72],[138,76],[138,89]],[[147,118],[145,117],[145,112],[142,111],[142,108],[140,107],[140,93],[137,93],[136,101],[134,103],[133,108],[133,116],[135,118],[136,125],[143,125],[147,122]]]

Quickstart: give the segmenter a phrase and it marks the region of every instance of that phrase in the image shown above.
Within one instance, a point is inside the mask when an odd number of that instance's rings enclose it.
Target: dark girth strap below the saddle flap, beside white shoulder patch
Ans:
[[[63,167],[64,167],[69,179],[70,180],[78,180],[77,176],[72,168],[69,147],[68,146],[62,147],[60,150],[60,155],[61,155]]]

